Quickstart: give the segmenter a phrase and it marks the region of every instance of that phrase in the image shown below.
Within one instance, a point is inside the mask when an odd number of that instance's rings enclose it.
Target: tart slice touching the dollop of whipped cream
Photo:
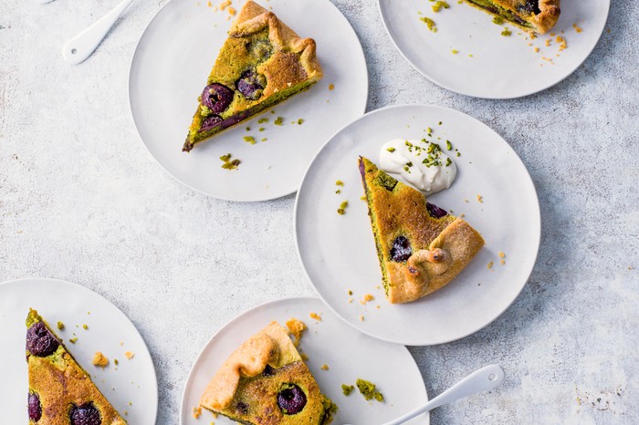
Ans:
[[[359,165],[388,300],[408,303],[451,282],[484,245],[481,235],[366,158]]]

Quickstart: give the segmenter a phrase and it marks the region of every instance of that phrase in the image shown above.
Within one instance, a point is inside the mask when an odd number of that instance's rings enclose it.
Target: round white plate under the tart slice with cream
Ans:
[[[379,163],[385,141],[422,139],[428,127],[433,138],[441,137],[443,143],[451,140],[462,154],[453,155],[456,181],[428,201],[457,216],[464,213],[465,220],[484,236],[486,246],[435,294],[391,305],[382,289],[368,207],[361,201],[364,192],[357,159],[362,155]],[[337,180],[344,186],[336,186]],[[340,194],[335,193],[337,189]],[[344,215],[337,213],[342,201],[349,202]],[[495,131],[453,109],[403,105],[366,114],[319,151],[299,189],[295,232],[299,258],[311,284],[338,316],[372,337],[432,345],[487,326],[519,295],[539,249],[539,202],[517,153]],[[499,252],[506,254],[506,264],[500,264]],[[490,262],[492,268],[487,267]],[[375,299],[362,305],[367,294]]]

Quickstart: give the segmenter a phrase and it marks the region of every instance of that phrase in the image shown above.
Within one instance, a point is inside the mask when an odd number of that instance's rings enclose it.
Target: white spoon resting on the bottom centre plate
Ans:
[[[443,393],[435,397],[435,399],[432,399],[424,404],[424,406],[422,406],[421,408],[409,411],[400,418],[391,420],[390,422],[386,422],[383,425],[399,425],[406,420],[411,420],[415,416],[427,412],[428,410],[438,408],[439,406],[442,406],[444,404],[452,403],[456,399],[464,399],[473,394],[477,394],[478,392],[487,391],[488,389],[494,389],[499,384],[501,384],[501,381],[503,380],[504,369],[498,367],[497,365],[490,365],[486,368],[480,368],[479,370],[468,375],[466,378],[457,382],[451,388],[446,389]]]

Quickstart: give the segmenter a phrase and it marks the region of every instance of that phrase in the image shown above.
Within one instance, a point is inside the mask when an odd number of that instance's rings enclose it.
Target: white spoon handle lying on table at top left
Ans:
[[[69,64],[78,65],[87,60],[91,53],[100,45],[100,41],[107,35],[111,27],[118,20],[124,9],[131,5],[133,0],[122,0],[107,15],[102,16],[92,26],[71,38],[65,47],[62,47],[62,57]]]

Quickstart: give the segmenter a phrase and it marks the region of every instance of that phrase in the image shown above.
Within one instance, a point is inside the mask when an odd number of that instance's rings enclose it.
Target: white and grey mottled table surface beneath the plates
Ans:
[[[158,423],[173,424],[215,329],[249,306],[313,291],[294,249],[293,196],[207,198],[142,145],[127,77],[162,3],[134,3],[75,67],[62,45],[115,1],[0,3],[0,280],[57,277],[119,306],[152,352]],[[493,101],[414,71],[376,2],[333,3],[361,38],[368,110],[432,103],[481,119],[519,153],[539,192],[539,259],[513,306],[471,337],[411,348],[433,395],[488,363],[507,371],[498,390],[437,409],[432,423],[639,423],[639,5],[613,0],[612,31],[558,86]]]

